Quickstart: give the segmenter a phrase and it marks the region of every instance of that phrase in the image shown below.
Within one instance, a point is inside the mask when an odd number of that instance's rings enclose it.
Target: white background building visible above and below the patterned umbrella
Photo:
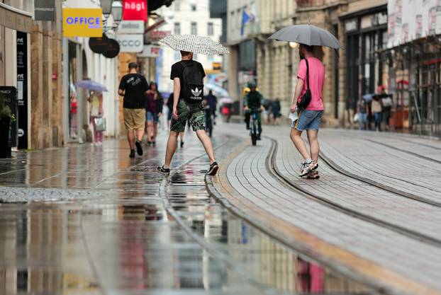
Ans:
[[[165,17],[166,25],[160,30],[170,31],[174,34],[174,23],[180,23],[180,35],[191,34],[191,23],[197,26],[197,35],[208,36],[208,23],[213,23],[213,35],[211,39],[219,41],[222,35],[222,21],[220,18],[210,18],[209,0],[174,0],[172,6],[162,7],[158,14]],[[196,11],[191,11],[191,5],[196,5]],[[179,62],[181,55],[179,52],[169,47],[162,46],[162,59],[157,69],[158,89],[163,93],[173,91],[173,82],[170,80],[170,70],[172,64]],[[201,62],[203,69],[209,71],[213,69],[213,62],[222,62],[222,57],[208,57],[202,54],[195,54],[194,59]]]

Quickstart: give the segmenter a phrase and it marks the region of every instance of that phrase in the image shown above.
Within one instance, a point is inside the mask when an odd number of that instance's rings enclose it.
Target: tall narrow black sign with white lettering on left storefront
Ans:
[[[17,32],[18,149],[28,149],[28,34]]]

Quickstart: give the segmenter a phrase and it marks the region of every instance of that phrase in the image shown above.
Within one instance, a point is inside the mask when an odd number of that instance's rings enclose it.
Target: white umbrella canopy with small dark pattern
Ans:
[[[188,51],[195,54],[221,55],[230,53],[219,42],[211,40],[210,37],[198,35],[168,35],[162,38],[160,42],[174,50]]]

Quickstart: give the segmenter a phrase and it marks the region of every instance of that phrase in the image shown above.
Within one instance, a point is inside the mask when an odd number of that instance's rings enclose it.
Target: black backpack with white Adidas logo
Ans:
[[[203,76],[196,66],[196,62],[186,64],[181,62],[184,66],[184,73],[182,74],[181,93],[185,100],[189,102],[201,102],[203,99]]]

